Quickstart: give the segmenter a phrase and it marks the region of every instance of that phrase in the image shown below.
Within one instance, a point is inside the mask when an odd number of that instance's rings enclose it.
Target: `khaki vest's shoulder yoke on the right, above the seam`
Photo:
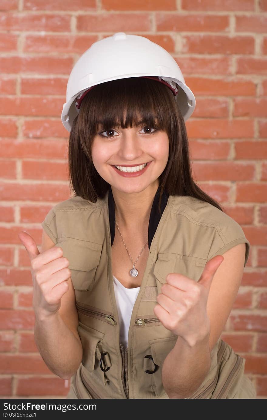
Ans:
[[[199,226],[214,227],[225,238],[232,231],[233,236],[244,236],[241,226],[229,215],[211,203],[190,196],[173,196],[171,212],[184,215]],[[232,236],[232,235],[230,235]]]

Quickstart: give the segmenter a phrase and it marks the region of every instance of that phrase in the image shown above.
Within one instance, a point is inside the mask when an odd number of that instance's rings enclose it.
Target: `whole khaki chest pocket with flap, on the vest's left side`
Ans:
[[[56,246],[63,249],[63,257],[69,260],[71,281],[74,289],[92,290],[102,244],[62,237],[58,239]]]

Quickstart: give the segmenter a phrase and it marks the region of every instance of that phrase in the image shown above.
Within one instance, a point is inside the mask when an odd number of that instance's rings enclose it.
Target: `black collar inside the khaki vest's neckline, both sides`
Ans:
[[[153,204],[151,207],[151,213],[149,216],[149,223],[148,223],[148,249],[150,249],[152,239],[155,235],[156,229],[159,224],[159,220],[161,219],[161,216],[158,211],[158,205],[159,205],[159,192],[160,192],[160,186],[156,191]],[[167,194],[165,191],[162,194],[161,199],[161,215],[167,205],[169,198],[169,194]],[[108,187],[108,217],[109,217],[109,226],[110,226],[110,235],[111,235],[111,246],[114,241],[115,237],[115,207],[114,207],[114,197],[112,194],[111,186]]]

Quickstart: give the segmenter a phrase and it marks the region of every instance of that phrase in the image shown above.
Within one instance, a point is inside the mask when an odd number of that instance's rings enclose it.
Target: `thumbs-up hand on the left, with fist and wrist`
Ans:
[[[71,276],[69,260],[63,257],[61,247],[55,246],[40,253],[31,235],[21,231],[18,236],[31,263],[32,306],[35,315],[45,319],[59,310],[61,298],[69,290],[66,281]]]

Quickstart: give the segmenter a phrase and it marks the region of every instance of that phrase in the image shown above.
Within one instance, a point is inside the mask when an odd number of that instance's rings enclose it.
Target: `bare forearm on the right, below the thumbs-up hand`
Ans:
[[[194,346],[178,336],[162,367],[162,383],[169,398],[190,397],[209,372],[210,363],[209,333]]]

